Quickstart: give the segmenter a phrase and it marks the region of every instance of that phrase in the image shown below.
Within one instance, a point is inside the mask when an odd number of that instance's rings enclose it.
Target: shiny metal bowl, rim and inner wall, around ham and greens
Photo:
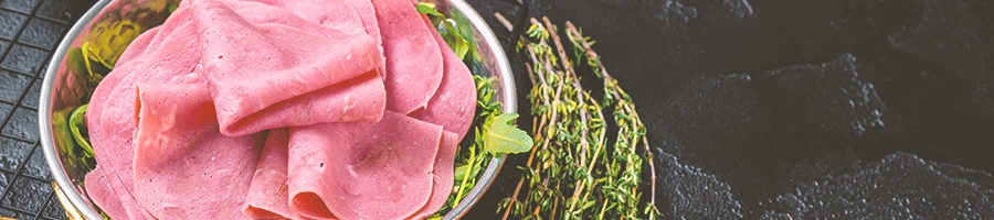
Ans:
[[[86,196],[85,190],[78,185],[83,182],[87,170],[82,165],[67,160],[71,158],[70,155],[74,147],[71,140],[65,140],[64,132],[67,131],[53,124],[55,122],[53,119],[60,120],[59,117],[62,117],[61,120],[64,120],[64,116],[59,116],[56,112],[64,112],[65,109],[81,106],[81,98],[85,94],[92,92],[93,89],[92,86],[86,85],[86,80],[80,75],[81,73],[74,73],[73,68],[67,64],[66,57],[71,48],[80,47],[87,41],[87,37],[92,34],[91,30],[102,29],[96,26],[101,21],[120,18],[148,20],[145,18],[148,16],[148,13],[142,13],[142,11],[165,4],[167,1],[177,0],[103,0],[97,2],[73,25],[49,63],[39,107],[41,144],[44,150],[45,161],[52,169],[52,176],[55,178],[56,189],[61,189],[64,194],[60,195],[60,201],[66,207],[67,212],[74,212],[71,216],[78,215],[86,219],[102,219],[101,215],[95,211],[96,209],[94,209],[94,205]],[[476,50],[480,55],[479,66],[474,68],[474,74],[496,76],[499,87],[495,88],[496,97],[494,100],[503,103],[505,112],[516,112],[517,96],[515,95],[514,75],[500,42],[487,23],[464,0],[429,1],[434,2],[440,12],[450,16],[462,16],[468,21],[473,31],[470,41],[476,42]],[[160,23],[152,25],[158,24]],[[444,216],[444,219],[459,218],[469,210],[493,184],[497,173],[500,172],[500,167],[504,165],[504,161],[505,156],[503,155],[491,158],[476,186],[452,211]]]

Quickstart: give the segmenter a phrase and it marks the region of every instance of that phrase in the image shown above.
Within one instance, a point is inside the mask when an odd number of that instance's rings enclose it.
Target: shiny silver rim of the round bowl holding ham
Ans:
[[[494,53],[494,58],[496,59],[496,65],[499,68],[499,77],[501,79],[501,88],[499,88],[503,92],[501,103],[504,106],[504,112],[516,112],[517,111],[517,102],[516,100],[516,89],[515,89],[515,80],[514,75],[511,74],[510,63],[507,59],[507,55],[501,47],[500,41],[497,40],[497,36],[494,34],[494,31],[490,30],[489,25],[483,18],[476,12],[473,7],[470,7],[464,0],[446,0],[448,1],[455,9],[469,21],[473,28],[480,33],[483,41],[487,43],[491,53]],[[86,11],[83,16],[66,33],[65,37],[63,37],[62,42],[59,44],[59,47],[55,50],[52,59],[49,62],[49,67],[45,69],[45,78],[41,88],[41,102],[39,103],[39,130],[41,132],[41,145],[44,151],[45,162],[49,165],[49,168],[52,172],[52,177],[55,179],[55,184],[62,188],[63,193],[65,193],[66,198],[72,204],[74,208],[76,208],[80,213],[86,219],[103,219],[99,213],[97,213],[86,199],[83,198],[84,193],[78,191],[77,187],[70,179],[68,175],[65,173],[65,168],[62,165],[61,160],[59,158],[57,150],[55,148],[55,142],[53,139],[52,131],[52,91],[54,87],[54,77],[57,76],[57,72],[65,58],[66,53],[72,47],[75,38],[86,29],[87,25],[91,24],[101,11],[109,4],[112,0],[101,0],[96,2],[88,11]],[[479,200],[479,197],[487,190],[487,188],[493,184],[496,178],[496,174],[500,172],[500,167],[503,167],[505,162],[505,155],[495,156],[490,160],[490,163],[487,165],[486,170],[482,176],[473,189],[470,189],[467,198],[456,205],[446,213],[443,219],[458,219],[466,211],[469,210],[476,201]],[[469,195],[474,196],[474,198],[469,198]]]

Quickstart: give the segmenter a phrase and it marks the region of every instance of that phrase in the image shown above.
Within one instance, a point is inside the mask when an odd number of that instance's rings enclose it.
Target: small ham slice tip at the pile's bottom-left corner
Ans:
[[[104,170],[97,165],[96,168],[86,174],[86,195],[93,200],[93,204],[101,208],[101,211],[112,219],[124,219],[127,213],[120,205],[120,198],[110,188],[110,183]]]

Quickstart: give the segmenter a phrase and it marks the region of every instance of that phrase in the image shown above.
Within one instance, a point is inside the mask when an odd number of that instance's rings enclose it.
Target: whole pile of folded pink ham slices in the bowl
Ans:
[[[423,219],[476,89],[411,0],[186,0],[94,91],[114,219]]]

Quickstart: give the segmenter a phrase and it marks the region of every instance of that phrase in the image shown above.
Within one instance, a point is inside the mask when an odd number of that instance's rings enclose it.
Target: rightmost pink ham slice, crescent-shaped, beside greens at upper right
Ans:
[[[431,26],[427,18],[423,21]],[[432,35],[442,45],[442,61],[445,64],[442,85],[427,107],[411,112],[411,117],[442,125],[445,131],[456,133],[463,140],[473,122],[473,114],[476,113],[476,82],[473,81],[469,68],[448,47],[442,35],[434,31]]]

